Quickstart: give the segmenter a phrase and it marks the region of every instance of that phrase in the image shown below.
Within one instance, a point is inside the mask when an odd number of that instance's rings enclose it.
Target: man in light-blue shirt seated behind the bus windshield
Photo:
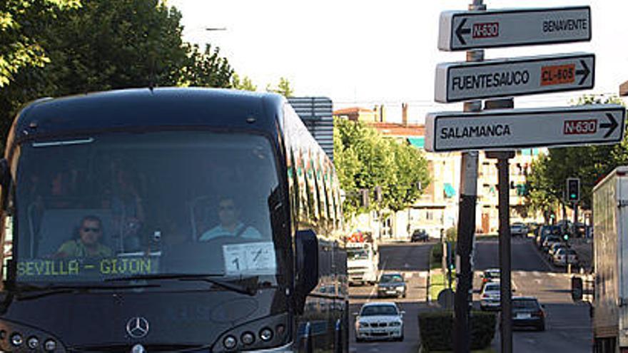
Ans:
[[[249,239],[261,239],[262,237],[254,227],[246,226],[240,222],[240,210],[233,198],[221,198],[218,202],[218,218],[220,218],[221,224],[204,232],[201,235],[201,241],[225,236]]]

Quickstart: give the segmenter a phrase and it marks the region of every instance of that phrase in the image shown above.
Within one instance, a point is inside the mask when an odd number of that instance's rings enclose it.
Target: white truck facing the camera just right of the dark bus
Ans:
[[[371,242],[348,242],[347,272],[349,284],[375,284],[378,280],[379,259],[380,255],[373,248]]]

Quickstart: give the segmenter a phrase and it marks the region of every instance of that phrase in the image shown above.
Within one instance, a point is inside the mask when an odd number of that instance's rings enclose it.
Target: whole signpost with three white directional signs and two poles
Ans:
[[[484,98],[574,91],[594,87],[595,57],[590,53],[484,61],[484,48],[572,43],[591,40],[591,9],[487,11],[472,0],[470,11],[440,14],[438,48],[467,51],[466,63],[437,66],[435,101],[465,101],[464,112],[430,113],[425,121],[425,149],[462,151],[455,292],[455,352],[470,351],[470,249],[475,232],[477,150],[498,159],[500,185],[500,279],[502,283],[501,352],[512,352],[510,293],[510,207],[508,160],[517,148],[618,143],[625,111],[617,105],[513,109],[512,98]],[[490,109],[486,111],[486,109]],[[458,265],[460,263],[460,265]],[[507,285],[506,285],[507,284]]]

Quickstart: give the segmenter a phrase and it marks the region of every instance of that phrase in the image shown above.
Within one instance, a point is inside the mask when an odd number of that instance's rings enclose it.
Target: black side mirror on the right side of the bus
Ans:
[[[313,230],[298,230],[295,234],[295,305],[302,314],[305,298],[318,285],[318,238]]]

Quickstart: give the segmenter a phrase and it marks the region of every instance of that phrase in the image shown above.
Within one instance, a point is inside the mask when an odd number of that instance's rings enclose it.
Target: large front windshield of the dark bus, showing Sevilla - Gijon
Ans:
[[[277,175],[269,140],[248,133],[106,133],[23,143],[15,278],[181,274],[276,284],[283,253],[270,221]]]

